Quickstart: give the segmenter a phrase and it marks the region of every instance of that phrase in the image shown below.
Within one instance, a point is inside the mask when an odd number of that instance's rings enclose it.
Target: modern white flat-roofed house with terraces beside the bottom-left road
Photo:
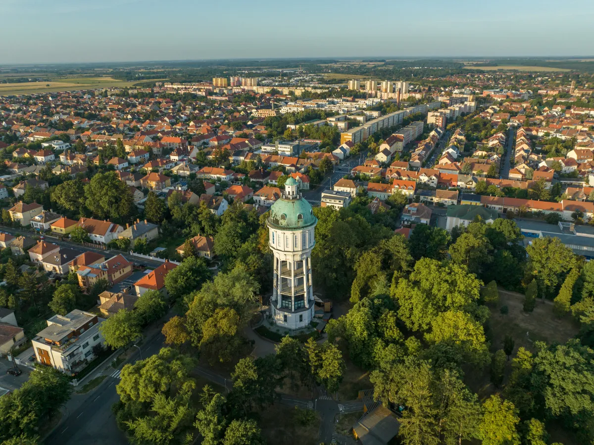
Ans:
[[[99,331],[103,318],[74,309],[54,315],[48,327],[37,333],[33,350],[37,362],[74,375],[93,360],[94,346],[105,343]]]

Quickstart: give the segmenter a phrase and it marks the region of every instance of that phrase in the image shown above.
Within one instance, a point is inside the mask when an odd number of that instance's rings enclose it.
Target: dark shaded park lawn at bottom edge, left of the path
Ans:
[[[275,403],[268,406],[260,415],[260,428],[266,443],[283,445],[318,445],[320,442],[320,416],[311,425],[299,425],[295,421],[296,409]]]

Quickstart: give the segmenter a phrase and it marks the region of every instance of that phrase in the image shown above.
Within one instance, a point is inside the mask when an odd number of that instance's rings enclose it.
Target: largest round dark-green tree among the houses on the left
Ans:
[[[124,222],[135,209],[128,186],[113,171],[93,176],[84,186],[84,195],[87,208],[100,220]]]

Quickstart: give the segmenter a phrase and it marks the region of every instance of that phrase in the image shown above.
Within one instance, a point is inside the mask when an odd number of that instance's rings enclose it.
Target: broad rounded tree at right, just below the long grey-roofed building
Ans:
[[[530,258],[529,270],[533,270],[534,277],[549,295],[555,292],[560,279],[576,261],[572,250],[557,237],[537,238],[526,247],[526,252]]]

